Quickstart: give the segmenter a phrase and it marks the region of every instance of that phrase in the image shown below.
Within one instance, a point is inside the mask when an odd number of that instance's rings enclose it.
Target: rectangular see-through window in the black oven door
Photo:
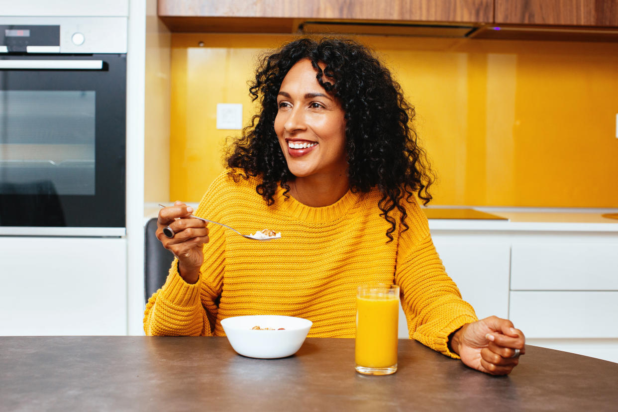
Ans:
[[[0,90],[0,194],[95,195],[94,90]]]

